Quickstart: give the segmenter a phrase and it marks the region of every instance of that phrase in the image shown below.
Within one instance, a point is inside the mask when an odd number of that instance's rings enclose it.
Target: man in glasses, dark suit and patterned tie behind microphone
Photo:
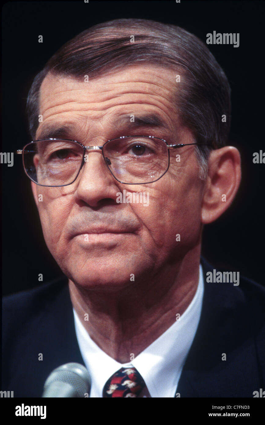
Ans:
[[[90,397],[253,397],[265,290],[200,258],[241,177],[206,45],[148,20],[96,25],[37,75],[28,116],[24,169],[67,279],[7,297],[3,390],[41,397],[77,362]]]

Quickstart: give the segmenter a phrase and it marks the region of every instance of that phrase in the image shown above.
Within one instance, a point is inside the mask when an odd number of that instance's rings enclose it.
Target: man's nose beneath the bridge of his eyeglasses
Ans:
[[[85,163],[78,176],[75,192],[77,202],[83,201],[90,207],[116,204],[117,181],[110,173],[102,150],[86,150]],[[91,148],[90,148],[91,149]]]

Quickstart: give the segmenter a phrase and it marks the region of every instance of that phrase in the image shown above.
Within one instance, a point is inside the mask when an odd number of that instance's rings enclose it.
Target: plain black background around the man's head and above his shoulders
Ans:
[[[257,1],[8,2],[3,17],[3,145],[15,152],[31,138],[25,113],[28,90],[45,62],[86,28],[116,18],[172,23],[196,34],[240,33],[240,46],[209,45],[232,89],[229,144],[242,158],[242,182],[232,206],[204,229],[203,255],[214,267],[239,271],[264,282],[265,164],[253,153],[265,151],[263,130],[264,3]],[[43,43],[38,36],[43,36]],[[3,171],[3,295],[61,275],[45,245],[37,208],[21,156]]]

